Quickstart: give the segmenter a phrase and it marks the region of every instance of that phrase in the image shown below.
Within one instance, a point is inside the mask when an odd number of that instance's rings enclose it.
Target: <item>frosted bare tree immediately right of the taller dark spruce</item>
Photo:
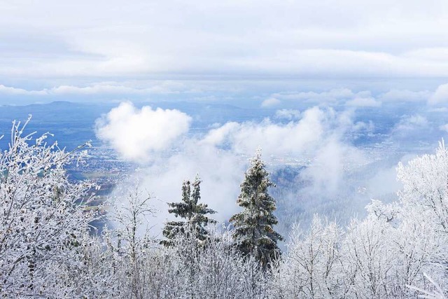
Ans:
[[[294,225],[288,253],[274,276],[276,298],[342,298],[342,230],[317,215],[309,232]]]

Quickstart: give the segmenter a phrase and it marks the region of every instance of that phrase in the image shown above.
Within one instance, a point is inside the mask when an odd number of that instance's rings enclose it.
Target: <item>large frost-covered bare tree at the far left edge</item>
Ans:
[[[0,153],[1,297],[72,296],[79,291],[76,281],[65,278],[83,267],[92,241],[90,223],[98,215],[85,207],[95,186],[71,183],[64,167],[76,156],[46,144],[48,133],[25,134],[28,121],[13,123],[9,146]]]

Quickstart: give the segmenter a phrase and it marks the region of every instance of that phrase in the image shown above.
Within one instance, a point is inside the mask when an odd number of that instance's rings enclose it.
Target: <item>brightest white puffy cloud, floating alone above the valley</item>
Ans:
[[[123,158],[146,162],[151,153],[164,151],[188,132],[190,116],[177,110],[136,109],[123,102],[97,120],[97,137],[114,148]]]

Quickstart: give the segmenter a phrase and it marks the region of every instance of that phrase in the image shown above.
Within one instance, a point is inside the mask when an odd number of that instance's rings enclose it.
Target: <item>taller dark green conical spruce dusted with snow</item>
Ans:
[[[233,237],[237,247],[245,255],[253,255],[256,260],[267,267],[281,253],[277,241],[283,237],[272,226],[278,223],[273,211],[276,209],[274,197],[267,193],[274,186],[266,171],[266,165],[261,160],[258,150],[251,159],[251,167],[246,171],[241,183],[241,194],[237,204],[243,208],[230,218],[235,226]]]

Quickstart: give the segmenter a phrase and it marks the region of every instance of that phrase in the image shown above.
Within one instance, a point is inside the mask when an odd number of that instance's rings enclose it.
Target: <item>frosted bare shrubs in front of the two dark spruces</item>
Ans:
[[[189,233],[165,249],[172,260],[167,272],[176,275],[165,286],[163,298],[269,298],[269,274],[255,258],[241,256],[227,229],[211,228],[207,246],[199,246],[194,227],[186,225],[186,230]]]

